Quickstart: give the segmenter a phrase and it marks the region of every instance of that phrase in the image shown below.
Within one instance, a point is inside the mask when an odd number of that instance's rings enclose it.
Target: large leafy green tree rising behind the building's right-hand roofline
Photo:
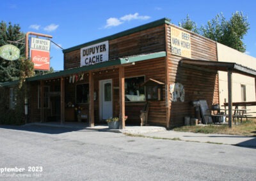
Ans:
[[[249,25],[243,12],[236,11],[236,13],[232,13],[230,20],[225,20],[222,13],[216,15],[215,18],[207,22],[207,25],[202,25],[200,31],[202,36],[245,52],[246,46],[243,43],[243,37],[250,29]]]

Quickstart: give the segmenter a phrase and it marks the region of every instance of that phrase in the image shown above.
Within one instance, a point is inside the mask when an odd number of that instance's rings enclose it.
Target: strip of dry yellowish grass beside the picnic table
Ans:
[[[217,134],[234,134],[243,136],[256,136],[256,119],[248,119],[241,124],[209,124],[204,126],[182,126],[173,128],[174,131],[193,132],[193,133],[217,133]]]

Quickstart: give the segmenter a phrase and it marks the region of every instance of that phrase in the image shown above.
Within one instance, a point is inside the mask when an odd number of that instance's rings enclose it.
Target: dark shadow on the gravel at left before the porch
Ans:
[[[31,131],[31,132],[46,133],[46,134],[61,134],[61,133],[81,130],[78,128],[70,128],[70,127],[51,127],[51,126],[38,126],[38,125],[29,125],[29,126],[0,125],[0,128],[14,129],[19,131]]]

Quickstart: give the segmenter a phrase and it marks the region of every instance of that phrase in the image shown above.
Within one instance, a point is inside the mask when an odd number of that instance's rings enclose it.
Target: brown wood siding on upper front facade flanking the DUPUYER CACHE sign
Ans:
[[[165,51],[164,25],[109,40],[109,60]],[[80,49],[64,54],[64,69],[80,67]]]

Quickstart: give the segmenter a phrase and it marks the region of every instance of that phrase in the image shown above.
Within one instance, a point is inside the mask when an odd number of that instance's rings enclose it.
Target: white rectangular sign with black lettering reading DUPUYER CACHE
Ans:
[[[81,48],[81,66],[108,61],[108,41]]]

